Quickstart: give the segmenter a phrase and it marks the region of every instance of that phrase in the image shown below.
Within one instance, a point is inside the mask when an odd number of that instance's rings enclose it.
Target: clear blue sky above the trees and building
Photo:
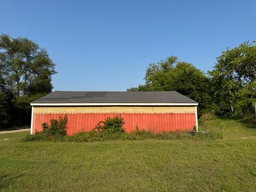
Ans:
[[[0,33],[28,37],[56,64],[54,90],[125,91],[177,55],[204,71],[256,39],[256,1],[0,2]]]

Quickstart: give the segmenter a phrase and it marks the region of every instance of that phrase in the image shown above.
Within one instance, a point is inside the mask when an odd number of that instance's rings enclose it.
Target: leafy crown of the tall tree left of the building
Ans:
[[[0,65],[5,83],[15,97],[51,92],[55,65],[47,52],[33,41],[1,35]]]

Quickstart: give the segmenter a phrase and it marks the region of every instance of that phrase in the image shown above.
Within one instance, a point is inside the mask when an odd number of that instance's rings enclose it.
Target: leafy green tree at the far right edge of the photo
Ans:
[[[256,44],[245,42],[223,51],[209,72],[213,96],[223,110],[233,106],[247,113],[256,102]]]

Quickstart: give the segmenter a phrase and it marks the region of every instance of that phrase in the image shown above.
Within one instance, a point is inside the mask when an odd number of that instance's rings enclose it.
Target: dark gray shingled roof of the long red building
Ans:
[[[197,103],[176,91],[54,91],[32,103]]]

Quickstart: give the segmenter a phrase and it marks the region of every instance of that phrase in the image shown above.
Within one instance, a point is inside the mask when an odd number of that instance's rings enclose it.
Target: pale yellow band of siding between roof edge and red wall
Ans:
[[[42,107],[34,106],[34,114],[194,114],[195,107]]]

